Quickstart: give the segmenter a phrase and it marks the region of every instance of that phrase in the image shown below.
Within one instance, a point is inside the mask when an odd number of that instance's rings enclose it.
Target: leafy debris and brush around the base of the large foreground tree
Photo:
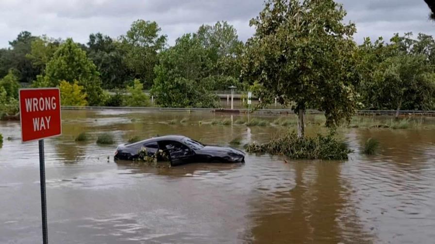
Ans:
[[[245,146],[246,152],[285,155],[292,159],[348,159],[351,152],[347,145],[335,139],[332,133],[327,136],[299,138],[295,132],[275,137],[265,144],[251,143]]]

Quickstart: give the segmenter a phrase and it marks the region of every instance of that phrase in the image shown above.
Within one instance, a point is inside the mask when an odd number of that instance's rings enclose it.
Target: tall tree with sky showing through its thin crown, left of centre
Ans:
[[[166,35],[156,22],[136,20],[127,33],[120,37],[125,52],[125,63],[134,77],[150,87],[154,79],[153,68],[158,62],[157,53],[166,44]]]

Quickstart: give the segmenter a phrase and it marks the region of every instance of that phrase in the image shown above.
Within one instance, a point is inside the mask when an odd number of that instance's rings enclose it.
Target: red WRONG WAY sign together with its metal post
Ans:
[[[48,244],[44,138],[57,137],[62,134],[60,113],[60,91],[58,88],[19,90],[21,140],[22,142],[38,140],[39,144],[43,244]]]

